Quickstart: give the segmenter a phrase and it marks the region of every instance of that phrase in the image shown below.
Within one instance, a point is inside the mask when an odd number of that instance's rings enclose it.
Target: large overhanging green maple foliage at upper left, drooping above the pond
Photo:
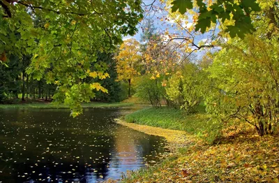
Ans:
[[[90,101],[97,83],[82,83],[92,75],[97,53],[112,50],[121,36],[135,33],[142,18],[141,1],[5,1],[1,3],[0,55],[32,55],[27,70],[33,79],[57,85],[56,102],[67,103],[73,115]],[[102,66],[94,65],[98,76]],[[106,75],[107,77],[107,75]],[[95,91],[95,92],[94,92]]]

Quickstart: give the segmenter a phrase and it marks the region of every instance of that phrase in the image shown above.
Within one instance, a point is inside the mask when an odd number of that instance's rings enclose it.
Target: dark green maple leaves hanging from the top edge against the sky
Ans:
[[[252,31],[255,31],[250,14],[261,10],[256,0],[220,0],[214,1],[212,4],[206,4],[202,0],[197,0],[196,3],[199,8],[199,17],[195,25],[196,31],[200,30],[204,33],[206,28],[211,27],[211,22],[216,24],[217,19],[220,19],[222,22],[233,20],[234,25],[227,26],[225,30],[232,38],[236,36],[244,38],[245,34],[251,34]],[[179,13],[184,14],[187,9],[193,8],[193,1],[191,0],[174,0],[172,2],[173,12],[179,10]]]

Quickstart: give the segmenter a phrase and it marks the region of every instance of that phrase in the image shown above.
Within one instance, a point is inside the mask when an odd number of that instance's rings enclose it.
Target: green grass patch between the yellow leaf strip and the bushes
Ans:
[[[196,113],[190,115],[174,108],[144,108],[126,115],[125,119],[130,123],[186,131],[210,143],[219,135],[218,124],[209,122],[203,105],[199,106]]]

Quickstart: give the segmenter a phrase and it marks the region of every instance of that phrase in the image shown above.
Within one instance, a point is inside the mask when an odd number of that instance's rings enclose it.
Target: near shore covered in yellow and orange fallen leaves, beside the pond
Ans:
[[[277,153],[279,134],[259,137],[253,131],[236,132],[231,136],[224,136],[218,144],[206,144],[195,133],[163,129],[162,123],[158,123],[161,127],[154,127],[155,124],[146,126],[143,119],[159,120],[153,113],[143,112],[137,117],[140,117],[140,120],[135,120],[135,117],[130,122],[117,119],[116,123],[143,133],[164,137],[170,152],[156,166],[128,172],[119,182],[278,182],[279,180]]]

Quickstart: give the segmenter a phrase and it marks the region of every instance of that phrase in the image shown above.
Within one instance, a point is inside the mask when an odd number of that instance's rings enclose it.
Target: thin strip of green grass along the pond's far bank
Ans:
[[[132,106],[133,103],[82,103],[82,108],[120,108]],[[42,108],[42,109],[67,109],[66,105],[54,105],[52,103],[18,103],[18,104],[0,104],[0,108]]]

